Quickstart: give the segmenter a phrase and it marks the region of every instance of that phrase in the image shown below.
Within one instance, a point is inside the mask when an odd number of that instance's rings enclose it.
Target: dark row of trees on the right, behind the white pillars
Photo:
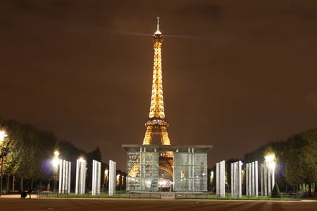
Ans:
[[[295,134],[286,140],[266,143],[255,151],[246,153],[242,162],[258,160],[259,163],[263,163],[265,156],[270,153],[274,153],[276,157],[275,179],[281,191],[302,190],[306,191],[309,196],[314,191],[316,194],[317,128]],[[237,160],[230,159],[226,162],[228,190],[230,189],[230,163]],[[209,172],[212,170],[216,173],[215,167]],[[213,181],[209,181],[209,187],[214,188],[215,186],[216,176],[213,177]]]

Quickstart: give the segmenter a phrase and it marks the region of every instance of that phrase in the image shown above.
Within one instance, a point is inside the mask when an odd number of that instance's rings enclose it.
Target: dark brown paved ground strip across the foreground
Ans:
[[[248,211],[306,211],[316,210],[316,200],[303,201],[259,201],[259,200],[175,200],[175,199],[110,199],[110,198],[32,198],[1,196],[1,210],[248,210]]]

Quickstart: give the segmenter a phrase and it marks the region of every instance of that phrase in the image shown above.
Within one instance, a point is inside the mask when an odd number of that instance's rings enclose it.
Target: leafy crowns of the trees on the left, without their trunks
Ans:
[[[52,132],[37,129],[30,124],[21,124],[15,120],[1,120],[0,128],[8,137],[4,145],[8,155],[4,158],[4,176],[14,175],[15,179],[53,179],[52,172],[44,171],[43,162],[53,158],[54,151],[61,153],[60,158],[75,163],[79,157],[91,157],[101,161],[101,151],[86,153],[68,141],[58,141]],[[1,146],[4,147],[4,146]],[[75,168],[75,165],[72,165]],[[89,172],[87,172],[89,174]],[[72,174],[74,175],[74,174]]]

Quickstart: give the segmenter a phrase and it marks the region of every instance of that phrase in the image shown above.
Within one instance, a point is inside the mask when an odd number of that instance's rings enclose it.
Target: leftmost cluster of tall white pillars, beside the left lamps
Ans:
[[[59,160],[58,193],[70,193],[71,162]]]

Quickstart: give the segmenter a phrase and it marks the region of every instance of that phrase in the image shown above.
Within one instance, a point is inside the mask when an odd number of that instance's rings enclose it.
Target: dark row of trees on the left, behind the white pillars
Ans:
[[[75,188],[75,165],[77,158],[87,160],[87,188],[92,186],[92,160],[101,162],[101,151],[86,151],[75,147],[66,140],[58,140],[52,132],[37,129],[30,124],[16,120],[0,119],[0,129],[8,135],[1,143],[6,156],[3,160],[3,190],[23,191],[28,188],[46,191],[47,185],[54,181],[54,171],[50,160],[54,151],[60,152],[60,159],[72,163],[71,187]],[[101,162],[101,172],[108,166]],[[55,175],[56,176],[56,175]],[[89,179],[90,178],[90,179]],[[101,184],[104,182],[101,178]],[[53,184],[52,184],[53,185]]]

